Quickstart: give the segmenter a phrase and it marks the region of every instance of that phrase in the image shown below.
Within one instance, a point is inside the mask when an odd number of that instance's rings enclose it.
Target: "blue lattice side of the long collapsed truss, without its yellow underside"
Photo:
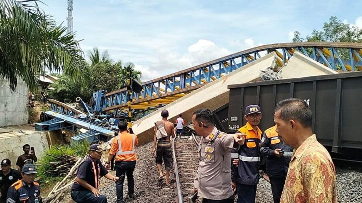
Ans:
[[[350,59],[342,59],[337,49],[348,50]],[[280,60],[284,62],[283,64],[290,59],[295,51],[299,51],[332,69],[336,69],[337,66],[341,67],[343,70],[350,69],[352,71],[354,71],[354,68],[362,68],[362,59],[360,55],[362,54],[361,44],[326,42],[269,44],[238,52],[146,82],[143,84],[143,90],[139,94],[132,92],[131,98],[132,100],[140,101],[147,97],[159,96],[160,94],[165,94],[167,92],[173,92],[178,89],[210,82],[213,80],[211,78],[218,79],[224,74],[230,73],[233,70],[241,68],[245,64],[260,58],[262,52],[274,50],[279,51],[279,53],[281,52],[278,56],[281,56]],[[236,63],[235,61],[240,62]],[[162,89],[164,91],[162,91]],[[127,103],[127,94],[125,89],[105,94],[105,98],[111,97],[114,99],[106,99],[105,102],[101,103],[101,108],[103,109]]]

